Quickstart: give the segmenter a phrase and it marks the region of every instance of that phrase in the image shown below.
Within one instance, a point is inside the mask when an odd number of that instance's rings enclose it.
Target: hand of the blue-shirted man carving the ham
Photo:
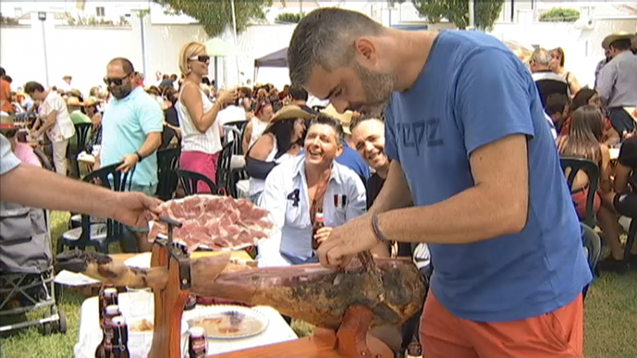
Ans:
[[[347,266],[351,256],[378,245],[370,216],[363,215],[333,228],[327,240],[316,250],[318,261],[326,268]]]

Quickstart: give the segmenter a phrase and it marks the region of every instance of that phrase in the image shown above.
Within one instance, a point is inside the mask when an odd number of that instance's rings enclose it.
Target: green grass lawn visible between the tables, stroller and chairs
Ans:
[[[53,240],[66,230],[68,218],[66,213],[51,214]],[[36,327],[11,332],[0,338],[1,358],[73,357],[79,328],[79,308],[84,297],[81,292],[69,288],[62,289],[61,296],[58,303],[67,315],[67,333],[42,336]],[[586,357],[637,357],[637,273],[604,273],[589,290],[585,314]],[[41,312],[29,313],[29,317],[41,317]],[[312,331],[311,325],[298,321],[293,322],[292,328],[300,336],[307,336]]]

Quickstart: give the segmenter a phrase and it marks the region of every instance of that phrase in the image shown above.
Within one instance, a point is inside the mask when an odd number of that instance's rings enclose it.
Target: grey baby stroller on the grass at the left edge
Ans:
[[[40,324],[44,335],[53,329],[66,333],[65,313],[55,303],[54,279],[47,212],[0,202],[0,333]],[[8,316],[39,308],[46,308],[42,319],[7,324]]]

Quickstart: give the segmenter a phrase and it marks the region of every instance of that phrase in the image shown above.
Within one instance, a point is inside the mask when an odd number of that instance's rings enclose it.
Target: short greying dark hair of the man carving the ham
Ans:
[[[326,71],[354,61],[354,41],[361,36],[378,36],[383,27],[357,11],[319,8],[298,23],[288,47],[292,85],[307,83],[314,65]]]

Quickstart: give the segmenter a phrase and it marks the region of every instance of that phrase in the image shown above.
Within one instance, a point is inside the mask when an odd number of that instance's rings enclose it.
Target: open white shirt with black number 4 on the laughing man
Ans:
[[[312,223],[305,178],[305,156],[274,167],[265,180],[261,207],[269,210],[274,230],[259,246],[259,266],[288,266],[281,252],[299,259],[312,255]],[[366,211],[365,186],[353,170],[336,162],[323,196],[325,226],[340,226]]]

